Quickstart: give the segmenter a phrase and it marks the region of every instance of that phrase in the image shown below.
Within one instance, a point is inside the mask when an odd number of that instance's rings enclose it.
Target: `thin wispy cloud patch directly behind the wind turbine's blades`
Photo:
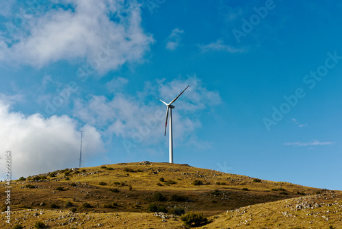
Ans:
[[[205,88],[196,75],[189,76],[188,80],[146,82],[142,91],[134,96],[114,93],[113,99],[101,95],[94,95],[89,101],[79,99],[75,103],[74,116],[101,128],[107,136],[114,135],[134,144],[152,145],[164,137],[166,121],[166,106],[153,95],[169,102],[187,85],[190,85],[187,91],[174,103],[174,138],[204,147],[197,144],[197,138],[192,136],[194,130],[201,126],[198,111],[222,101],[219,93]]]

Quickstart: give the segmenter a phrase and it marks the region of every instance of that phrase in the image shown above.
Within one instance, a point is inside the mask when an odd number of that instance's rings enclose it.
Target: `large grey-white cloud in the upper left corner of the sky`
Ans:
[[[0,40],[0,60],[43,67],[59,60],[86,60],[105,73],[127,62],[141,62],[153,38],[141,27],[141,9],[135,1],[65,0],[61,6],[25,16],[16,42]],[[110,17],[110,18],[109,18]]]

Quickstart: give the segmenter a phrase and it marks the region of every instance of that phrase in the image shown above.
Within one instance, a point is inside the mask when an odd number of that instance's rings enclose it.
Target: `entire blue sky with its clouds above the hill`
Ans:
[[[13,178],[77,167],[81,130],[83,167],[168,161],[153,96],[189,85],[172,112],[174,162],[342,189],[339,1],[0,9],[0,156],[12,151]]]

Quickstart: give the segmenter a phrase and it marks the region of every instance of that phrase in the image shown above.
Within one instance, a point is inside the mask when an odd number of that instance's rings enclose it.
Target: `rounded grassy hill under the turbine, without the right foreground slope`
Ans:
[[[0,185],[5,186],[4,183]],[[174,213],[176,208],[182,208],[185,212],[205,213],[212,219],[207,224],[211,228],[216,223],[220,224],[220,220],[227,220],[222,218],[222,213],[227,210],[247,206],[259,208],[261,203],[282,203],[289,198],[304,198],[316,193],[330,195],[326,190],[259,180],[189,165],[134,162],[64,169],[12,182],[11,208],[16,210],[12,213],[12,224],[20,222],[25,226],[32,226],[34,220],[44,219],[45,224],[53,228],[70,228],[71,225],[79,225],[80,221],[77,219],[81,219],[83,215],[83,226],[90,223],[86,228],[97,227],[98,224],[104,224],[103,227],[105,224],[119,225],[120,220],[121,226],[118,228],[123,228],[123,225],[128,228],[181,226],[179,217],[166,220],[153,216],[148,207],[155,204],[157,208],[169,213]],[[334,195],[339,195],[339,191]],[[0,198],[1,203],[4,203],[4,193],[1,193]],[[66,221],[64,217],[58,219],[60,216],[53,218],[53,215],[61,214],[69,214],[66,218],[75,219]],[[219,214],[220,217],[217,216]],[[27,215],[25,221],[23,215]],[[55,220],[49,221],[49,217]],[[235,219],[240,220],[239,217],[232,217],[234,220],[230,218],[229,221],[234,224]],[[57,224],[59,220],[64,221],[65,225]],[[159,225],[161,220],[167,222]],[[2,215],[1,228],[8,226],[4,221]]]

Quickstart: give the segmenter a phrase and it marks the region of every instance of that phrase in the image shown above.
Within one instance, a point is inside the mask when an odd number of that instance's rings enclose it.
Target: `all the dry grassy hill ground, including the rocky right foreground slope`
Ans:
[[[103,165],[13,181],[12,224],[2,214],[0,228],[183,228],[190,211],[209,219],[202,228],[342,228],[341,194],[189,165]]]

